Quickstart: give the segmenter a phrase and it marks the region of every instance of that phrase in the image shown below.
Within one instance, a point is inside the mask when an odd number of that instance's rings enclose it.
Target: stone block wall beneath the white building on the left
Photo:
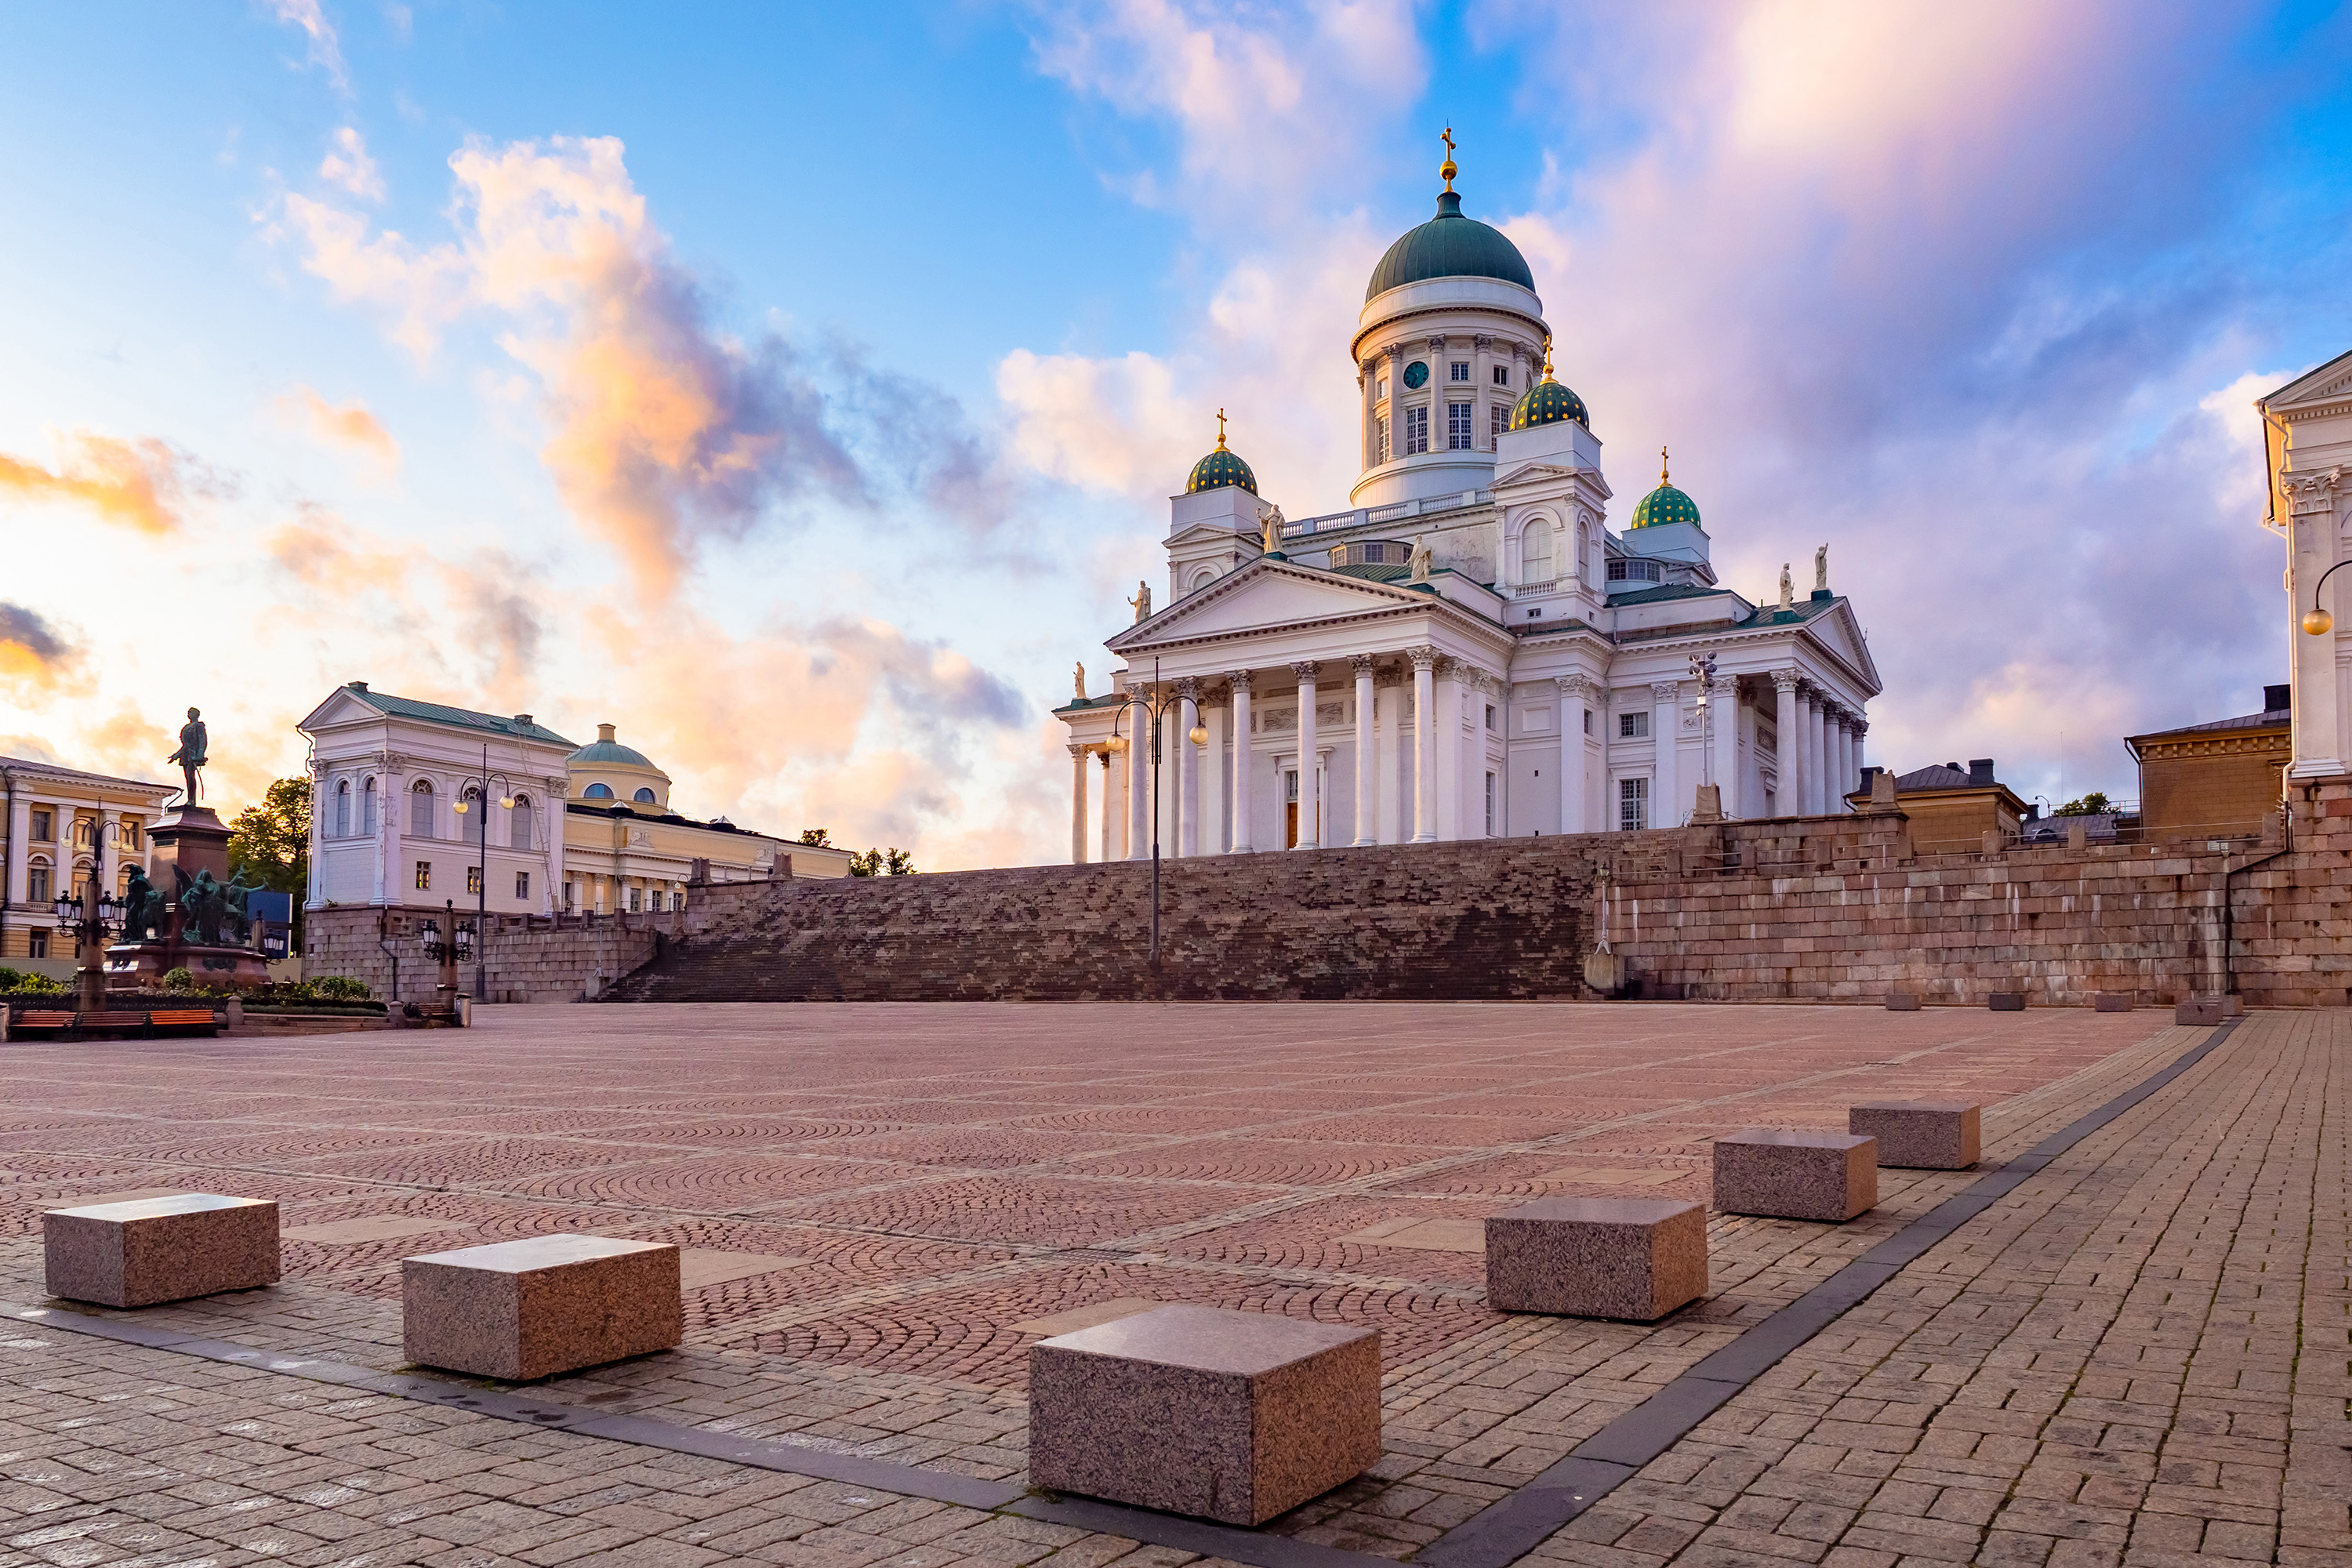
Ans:
[[[713,889],[715,891],[715,889]],[[440,966],[426,957],[426,919],[440,910],[325,907],[303,917],[303,978],[350,976],[369,994],[393,999],[393,959],[400,959],[397,1001],[430,1001]],[[470,919],[463,910],[459,919]],[[682,912],[661,914],[492,914],[485,945],[485,1001],[586,1001],[649,964],[661,943],[684,931]],[[383,936],[388,931],[388,936]],[[379,936],[383,943],[379,945]],[[390,952],[386,952],[390,947]],[[473,992],[473,966],[459,971]]]

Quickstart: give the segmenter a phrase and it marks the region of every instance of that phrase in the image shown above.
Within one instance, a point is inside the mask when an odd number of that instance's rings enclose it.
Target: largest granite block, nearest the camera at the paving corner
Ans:
[[[1256,1526],[1378,1458],[1378,1328],[1160,1307],[1030,1345],[1030,1486]]]

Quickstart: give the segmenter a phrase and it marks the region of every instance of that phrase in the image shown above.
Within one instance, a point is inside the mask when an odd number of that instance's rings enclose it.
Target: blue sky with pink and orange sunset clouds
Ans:
[[[1621,508],[1670,444],[1733,588],[1830,545],[1872,759],[2129,797],[2284,679],[2251,400],[2352,348],[2343,7],[652,16],[0,16],[0,752],[160,778],[198,703],[233,809],[367,679],[1054,860],[1214,411],[1345,505],[1449,122]]]

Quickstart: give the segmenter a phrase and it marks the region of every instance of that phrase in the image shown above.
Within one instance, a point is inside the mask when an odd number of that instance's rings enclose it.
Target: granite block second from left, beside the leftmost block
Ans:
[[[532,1382],[684,1338],[666,1241],[557,1234],[400,1260],[400,1345],[423,1366]]]

